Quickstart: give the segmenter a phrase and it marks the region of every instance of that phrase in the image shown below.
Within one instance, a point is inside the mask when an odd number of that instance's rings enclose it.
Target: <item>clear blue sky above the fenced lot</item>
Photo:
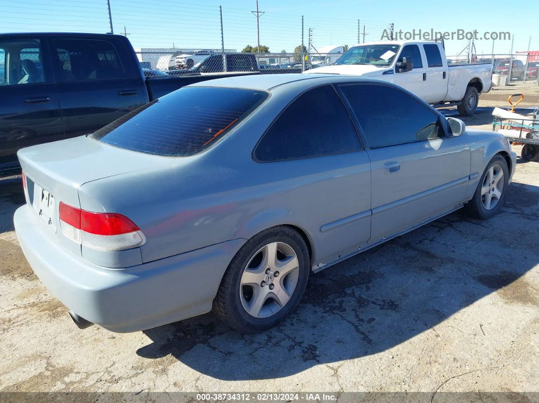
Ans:
[[[114,33],[124,26],[134,47],[220,48],[219,4],[223,6],[225,48],[240,51],[256,45],[254,0],[110,0]],[[260,0],[260,43],[270,51],[292,52],[301,43],[305,16],[305,44],[309,27],[315,47],[357,43],[357,20],[365,37],[379,40],[389,23],[395,29],[514,34],[514,51],[539,50],[539,3],[507,1],[446,2],[403,0]],[[106,0],[4,0],[0,2],[0,32],[109,31]],[[466,40],[446,42],[448,55],[460,52]],[[508,53],[510,40],[497,40],[496,53]],[[476,41],[478,54],[490,53],[491,40]]]

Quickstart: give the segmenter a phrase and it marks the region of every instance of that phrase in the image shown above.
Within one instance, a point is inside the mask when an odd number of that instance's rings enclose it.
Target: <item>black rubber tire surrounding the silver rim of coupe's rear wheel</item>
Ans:
[[[267,317],[251,316],[247,313],[241,300],[244,298],[240,292],[241,276],[251,258],[257,256],[257,251],[273,242],[285,243],[295,252],[298,258],[299,272],[297,282],[290,299],[277,312]],[[236,253],[226,269],[217,295],[213,300],[213,312],[231,328],[241,333],[257,333],[272,328],[298,306],[307,285],[309,271],[309,251],[301,235],[286,225],[269,228],[252,237]],[[284,281],[285,278],[282,280]],[[266,287],[269,286],[266,285]]]

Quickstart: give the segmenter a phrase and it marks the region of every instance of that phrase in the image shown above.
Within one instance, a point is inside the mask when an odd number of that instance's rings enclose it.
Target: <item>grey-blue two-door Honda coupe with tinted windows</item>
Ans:
[[[193,84],[87,136],[18,153],[15,228],[80,328],[213,312],[268,329],[310,271],[465,207],[502,207],[515,153],[376,79]]]

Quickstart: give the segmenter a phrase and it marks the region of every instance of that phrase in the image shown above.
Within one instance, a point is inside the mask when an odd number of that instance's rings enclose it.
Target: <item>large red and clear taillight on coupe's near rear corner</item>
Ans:
[[[63,234],[89,248],[118,251],[145,242],[140,228],[121,214],[94,213],[60,202],[59,216]]]

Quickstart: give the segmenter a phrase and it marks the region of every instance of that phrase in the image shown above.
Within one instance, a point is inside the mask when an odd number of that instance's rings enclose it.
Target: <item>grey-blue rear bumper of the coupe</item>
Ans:
[[[28,263],[51,293],[84,319],[121,333],[209,312],[226,267],[245,242],[233,239],[113,270],[67,251],[27,205],[13,221]]]

